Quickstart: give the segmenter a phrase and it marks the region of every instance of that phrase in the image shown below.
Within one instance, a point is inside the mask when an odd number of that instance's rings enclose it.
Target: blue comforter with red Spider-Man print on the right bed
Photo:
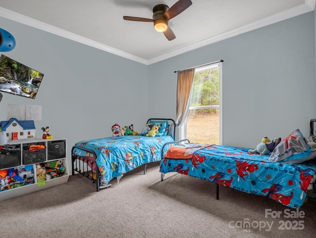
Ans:
[[[270,162],[269,155],[248,150],[210,145],[194,152],[192,159],[163,158],[160,172],[178,172],[300,208],[316,173],[315,163]]]

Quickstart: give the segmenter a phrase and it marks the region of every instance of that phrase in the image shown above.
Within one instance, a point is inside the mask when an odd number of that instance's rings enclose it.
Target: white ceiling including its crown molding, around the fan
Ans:
[[[0,0],[0,16],[148,65],[313,11],[316,0],[192,0],[169,21],[171,41],[151,22],[123,20],[152,18],[155,5],[176,1]]]

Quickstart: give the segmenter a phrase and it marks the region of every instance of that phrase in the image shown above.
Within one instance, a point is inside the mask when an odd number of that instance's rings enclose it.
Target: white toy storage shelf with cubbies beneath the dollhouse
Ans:
[[[0,200],[13,198],[17,196],[21,196],[23,194],[32,193],[35,191],[39,191],[42,189],[46,189],[52,186],[60,185],[66,183],[69,178],[69,168],[67,163],[67,139],[22,139],[22,140],[9,140],[7,145],[13,145],[20,149],[20,162],[15,162],[12,167],[8,165],[8,167],[3,167],[0,164],[0,170],[5,169],[9,171],[11,169],[17,171],[17,168],[21,168],[21,166],[25,167],[28,165],[28,168],[33,166],[33,183],[24,185],[21,187],[15,187],[7,190],[0,189]],[[44,149],[39,149],[34,154],[33,151],[30,151],[28,148],[30,145],[41,145],[44,146]],[[31,153],[30,153],[31,152]],[[37,154],[38,153],[38,154]],[[16,160],[16,159],[15,159]],[[62,167],[64,167],[63,175],[52,176],[49,180],[45,180],[44,183],[38,181],[36,168],[37,164],[47,164],[48,162],[51,164],[57,164],[58,161],[62,162]],[[52,169],[54,170],[54,169]],[[56,173],[52,174],[56,175]],[[48,176],[49,177],[49,176]],[[1,178],[0,178],[1,182]],[[1,186],[1,183],[0,183]],[[1,187],[2,188],[2,187]]]

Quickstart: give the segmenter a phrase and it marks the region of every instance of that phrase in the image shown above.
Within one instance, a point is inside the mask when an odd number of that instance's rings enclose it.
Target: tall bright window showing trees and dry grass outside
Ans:
[[[190,108],[180,138],[205,144],[222,144],[221,63],[196,68]]]

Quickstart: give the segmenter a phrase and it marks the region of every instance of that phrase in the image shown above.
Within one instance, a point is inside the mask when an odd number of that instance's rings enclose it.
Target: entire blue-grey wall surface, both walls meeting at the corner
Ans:
[[[41,105],[40,128],[78,141],[111,136],[114,123],[141,130],[149,117],[175,118],[176,70],[224,60],[223,144],[255,147],[264,136],[309,133],[316,118],[314,12],[146,66],[1,18],[16,38],[4,55],[42,73],[35,100],[2,93],[7,104]],[[203,131],[201,131],[203,133]],[[70,160],[69,160],[70,162]]]

